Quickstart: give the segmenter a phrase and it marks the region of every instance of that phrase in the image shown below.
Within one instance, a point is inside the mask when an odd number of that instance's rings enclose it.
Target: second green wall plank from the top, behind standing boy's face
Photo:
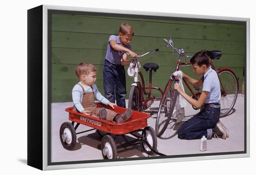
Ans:
[[[79,48],[106,50],[108,34],[52,32],[52,47],[56,48]],[[157,37],[134,37],[131,42],[132,50],[148,51],[165,46],[163,38]],[[200,50],[221,50],[223,54],[244,54],[244,43],[233,41],[209,41],[173,38],[176,48],[183,48],[186,52],[196,53]],[[171,52],[170,48],[161,49]]]

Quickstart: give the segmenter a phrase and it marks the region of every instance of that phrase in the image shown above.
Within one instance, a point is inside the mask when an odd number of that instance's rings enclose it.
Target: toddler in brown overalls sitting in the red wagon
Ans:
[[[96,118],[106,119],[108,121],[123,123],[132,115],[132,110],[127,109],[124,113],[115,113],[114,111],[98,108],[94,103],[94,98],[105,105],[111,106],[113,109],[116,105],[101,95],[96,81],[97,69],[89,63],[80,63],[75,68],[75,74],[80,80],[72,90],[72,99],[74,102],[74,111],[79,111],[86,115],[92,115]]]

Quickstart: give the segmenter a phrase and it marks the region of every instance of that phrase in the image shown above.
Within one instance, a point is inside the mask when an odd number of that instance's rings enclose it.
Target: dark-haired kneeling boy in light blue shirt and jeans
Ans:
[[[200,98],[198,100],[191,98],[178,83],[175,83],[175,89],[191,105],[202,109],[200,113],[195,114],[179,128],[178,137],[181,139],[200,139],[205,136],[210,139],[213,135],[217,135],[225,139],[228,137],[228,131],[219,122],[221,89],[218,75],[215,70],[209,67],[209,57],[206,51],[197,52],[190,59],[190,63],[193,65],[193,72],[196,75],[202,75],[202,78],[195,80],[184,73],[182,73],[182,77],[195,88],[203,86]]]

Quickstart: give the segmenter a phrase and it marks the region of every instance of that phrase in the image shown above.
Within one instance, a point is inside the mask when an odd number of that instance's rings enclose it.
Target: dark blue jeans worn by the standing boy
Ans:
[[[110,102],[115,103],[116,97],[117,106],[126,107],[126,77],[123,66],[104,61],[103,87],[105,97]]]

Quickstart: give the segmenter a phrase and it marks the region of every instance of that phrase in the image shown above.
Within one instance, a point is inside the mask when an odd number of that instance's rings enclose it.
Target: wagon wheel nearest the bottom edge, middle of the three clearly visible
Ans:
[[[103,159],[116,159],[117,149],[114,139],[110,135],[106,135],[101,140],[101,152]]]

